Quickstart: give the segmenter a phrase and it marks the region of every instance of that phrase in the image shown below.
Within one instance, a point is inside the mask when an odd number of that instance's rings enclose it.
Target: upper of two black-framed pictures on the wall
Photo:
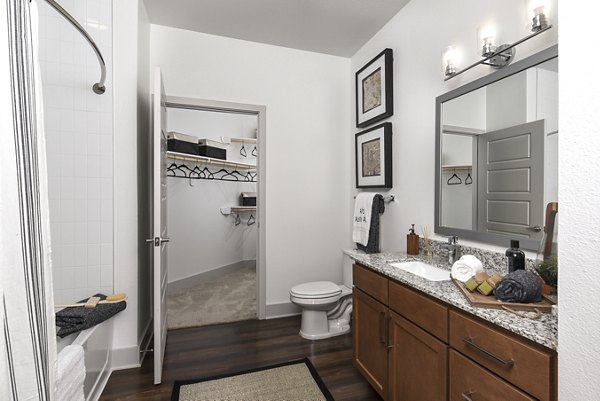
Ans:
[[[385,49],[356,73],[356,126],[364,128],[394,114],[394,57]]]

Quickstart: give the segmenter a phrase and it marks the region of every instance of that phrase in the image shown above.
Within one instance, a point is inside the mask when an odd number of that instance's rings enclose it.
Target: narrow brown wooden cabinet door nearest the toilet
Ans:
[[[387,393],[387,306],[354,287],[354,365],[383,398]]]

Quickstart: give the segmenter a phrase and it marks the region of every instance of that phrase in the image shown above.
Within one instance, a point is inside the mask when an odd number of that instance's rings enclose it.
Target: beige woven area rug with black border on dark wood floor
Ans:
[[[171,401],[333,401],[308,358],[196,380],[176,380]]]

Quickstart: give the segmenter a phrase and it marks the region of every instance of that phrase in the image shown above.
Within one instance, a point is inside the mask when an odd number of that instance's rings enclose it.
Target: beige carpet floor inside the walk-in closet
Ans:
[[[256,267],[247,266],[167,295],[169,329],[256,319]]]

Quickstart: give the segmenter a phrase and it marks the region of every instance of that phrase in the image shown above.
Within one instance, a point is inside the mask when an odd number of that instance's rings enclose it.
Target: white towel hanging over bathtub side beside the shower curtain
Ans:
[[[85,401],[85,355],[81,345],[67,345],[56,362],[56,400]]]

